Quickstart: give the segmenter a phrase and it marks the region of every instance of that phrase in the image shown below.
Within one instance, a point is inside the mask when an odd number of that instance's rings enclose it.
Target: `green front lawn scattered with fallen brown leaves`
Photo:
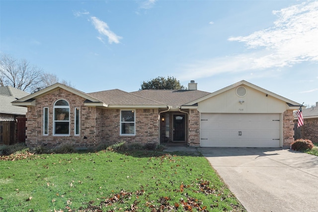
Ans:
[[[0,160],[0,211],[245,211],[201,156],[153,151]]]

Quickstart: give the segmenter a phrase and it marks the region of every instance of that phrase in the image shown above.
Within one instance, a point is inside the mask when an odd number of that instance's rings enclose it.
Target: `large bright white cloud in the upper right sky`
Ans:
[[[273,27],[229,40],[244,42],[250,49],[264,47],[269,54],[259,62],[266,61],[272,67],[318,62],[318,1],[303,2],[273,14],[278,16]]]

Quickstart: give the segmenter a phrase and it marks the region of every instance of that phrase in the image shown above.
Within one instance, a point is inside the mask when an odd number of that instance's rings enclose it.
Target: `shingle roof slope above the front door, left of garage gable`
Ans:
[[[177,107],[210,94],[201,90],[139,90],[134,95]]]

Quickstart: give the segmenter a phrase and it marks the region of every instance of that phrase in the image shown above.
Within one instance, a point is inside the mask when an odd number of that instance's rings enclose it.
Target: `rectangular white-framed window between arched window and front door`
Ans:
[[[120,135],[135,135],[135,110],[120,111]]]

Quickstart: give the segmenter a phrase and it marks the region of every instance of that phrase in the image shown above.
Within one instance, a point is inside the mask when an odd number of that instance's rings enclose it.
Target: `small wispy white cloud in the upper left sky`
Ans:
[[[99,20],[96,17],[90,17],[90,20],[92,21],[92,24],[94,25],[95,29],[99,32],[101,36],[107,36],[108,37],[108,43],[120,43],[119,40],[122,39],[122,37],[116,35],[114,32],[112,32],[107,23],[104,21]],[[97,37],[98,40],[102,41],[102,37]]]

